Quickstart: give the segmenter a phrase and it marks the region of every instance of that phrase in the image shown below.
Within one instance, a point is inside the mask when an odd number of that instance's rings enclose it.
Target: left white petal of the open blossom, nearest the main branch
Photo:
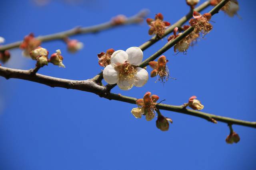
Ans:
[[[108,84],[116,84],[118,81],[118,72],[109,64],[103,70],[103,78]]]

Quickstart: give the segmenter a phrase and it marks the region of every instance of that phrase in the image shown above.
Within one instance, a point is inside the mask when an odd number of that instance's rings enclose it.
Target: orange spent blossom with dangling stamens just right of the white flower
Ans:
[[[157,62],[150,61],[148,63],[149,66],[154,69],[151,71],[150,76],[159,76],[158,80],[160,80],[161,82],[164,82],[164,80],[167,81],[169,78],[169,70],[168,67],[166,66],[167,62],[168,60],[166,60],[166,57],[164,55],[159,57]]]

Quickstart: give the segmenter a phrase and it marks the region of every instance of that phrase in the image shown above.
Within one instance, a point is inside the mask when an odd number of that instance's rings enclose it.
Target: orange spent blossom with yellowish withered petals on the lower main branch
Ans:
[[[150,121],[152,120],[156,113],[156,101],[159,99],[157,95],[152,95],[150,97],[151,93],[146,92],[143,99],[136,100],[136,104],[141,107],[133,108],[131,113],[136,118],[141,118],[142,115],[146,115],[146,120]]]

